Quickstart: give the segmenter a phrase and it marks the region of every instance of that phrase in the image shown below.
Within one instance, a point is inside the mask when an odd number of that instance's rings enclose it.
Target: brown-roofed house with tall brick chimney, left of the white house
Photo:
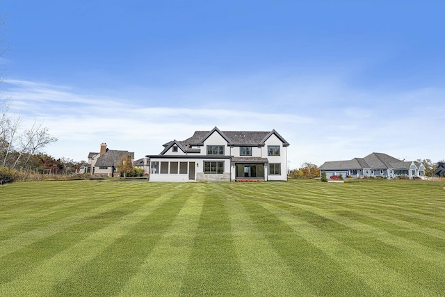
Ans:
[[[131,162],[134,159],[134,153],[127,150],[108,150],[106,143],[100,145],[100,152],[90,152],[88,154],[88,166],[91,168],[91,175],[118,177],[118,165],[122,157],[129,157]]]

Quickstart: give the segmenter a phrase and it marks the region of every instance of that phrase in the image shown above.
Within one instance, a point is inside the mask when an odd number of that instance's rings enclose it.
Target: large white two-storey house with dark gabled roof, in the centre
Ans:
[[[195,131],[149,158],[152,182],[287,180],[287,143],[277,131]]]

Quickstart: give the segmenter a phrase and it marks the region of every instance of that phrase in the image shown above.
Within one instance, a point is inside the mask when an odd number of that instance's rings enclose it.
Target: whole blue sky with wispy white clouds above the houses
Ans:
[[[389,2],[389,3],[388,3]],[[444,1],[13,1],[0,91],[76,161],[277,130],[291,168],[445,158]]]

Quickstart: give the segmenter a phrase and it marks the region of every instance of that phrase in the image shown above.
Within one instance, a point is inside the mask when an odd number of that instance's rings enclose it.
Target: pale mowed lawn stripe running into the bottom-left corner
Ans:
[[[76,242],[73,246],[44,260],[42,264],[21,277],[0,284],[0,295],[25,296],[31,292],[35,295],[47,295],[51,293],[56,284],[68,279],[79,278],[79,274],[76,273],[79,268],[97,257],[120,237],[127,234],[132,227],[138,225],[163,203],[170,200],[172,195],[180,191],[180,188],[179,186],[174,191],[157,196],[131,214],[123,216],[118,221],[113,221],[96,232],[91,232],[86,239]],[[76,285],[83,287],[81,283]]]

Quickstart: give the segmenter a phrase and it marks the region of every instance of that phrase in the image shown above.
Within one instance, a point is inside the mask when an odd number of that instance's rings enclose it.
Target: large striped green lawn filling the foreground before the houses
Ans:
[[[444,182],[0,186],[0,296],[444,296]]]

